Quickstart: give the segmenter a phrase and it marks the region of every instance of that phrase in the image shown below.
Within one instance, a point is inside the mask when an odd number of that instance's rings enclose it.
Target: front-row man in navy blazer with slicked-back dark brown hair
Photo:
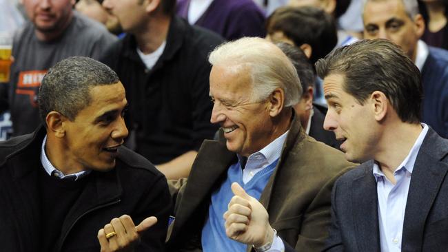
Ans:
[[[336,181],[326,251],[445,251],[448,140],[420,123],[420,72],[396,45],[360,41],[317,63],[348,160]]]

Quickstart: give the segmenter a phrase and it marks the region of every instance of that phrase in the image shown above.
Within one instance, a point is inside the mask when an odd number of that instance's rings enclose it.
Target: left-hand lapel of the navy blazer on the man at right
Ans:
[[[354,180],[352,186],[354,235],[359,251],[380,251],[378,194],[373,165],[371,160],[356,168],[365,169],[365,173]]]

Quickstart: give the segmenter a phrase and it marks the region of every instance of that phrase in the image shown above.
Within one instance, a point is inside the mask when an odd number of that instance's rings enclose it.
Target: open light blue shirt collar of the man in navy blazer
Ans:
[[[422,146],[423,140],[425,139],[425,136],[428,133],[429,129],[428,125],[426,125],[425,123],[421,123],[421,125],[423,129],[422,132],[420,132],[420,134],[418,135],[416,143],[414,143],[414,146],[412,146],[411,151],[409,151],[409,154],[407,154],[405,160],[403,160],[403,162],[398,165],[395,172],[399,171],[400,169],[406,169],[410,174],[412,174],[412,171],[414,171],[414,165],[416,163],[418,150]],[[374,163],[373,174],[375,176],[376,182],[378,182],[378,178],[385,176],[376,162]]]

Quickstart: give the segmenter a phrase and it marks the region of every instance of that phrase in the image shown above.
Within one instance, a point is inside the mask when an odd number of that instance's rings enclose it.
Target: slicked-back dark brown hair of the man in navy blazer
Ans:
[[[420,121],[423,91],[420,71],[391,41],[364,40],[330,52],[316,63],[320,78],[344,76],[343,90],[363,105],[375,91],[385,94],[391,106],[407,123]]]

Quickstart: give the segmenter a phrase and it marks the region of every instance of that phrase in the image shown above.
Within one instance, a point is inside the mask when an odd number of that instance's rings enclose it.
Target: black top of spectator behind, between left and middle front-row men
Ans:
[[[101,61],[120,77],[129,103],[128,127],[136,133],[136,152],[156,165],[197,150],[218,127],[210,123],[211,65],[207,56],[223,40],[217,34],[173,17],[166,47],[152,70],[128,34]]]

